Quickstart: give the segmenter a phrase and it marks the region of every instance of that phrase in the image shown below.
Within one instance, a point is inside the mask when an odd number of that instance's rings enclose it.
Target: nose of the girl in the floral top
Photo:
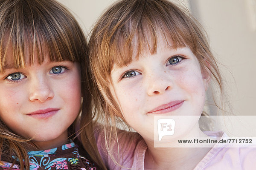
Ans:
[[[52,85],[44,77],[38,77],[31,82],[29,87],[29,100],[45,102],[52,99],[54,93],[52,91]]]

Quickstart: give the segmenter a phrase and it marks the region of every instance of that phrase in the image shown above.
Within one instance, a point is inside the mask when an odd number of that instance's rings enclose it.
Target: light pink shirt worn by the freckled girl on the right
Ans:
[[[223,132],[207,132],[208,136],[224,138]],[[147,145],[138,133],[119,133],[120,164],[116,165],[104,149],[103,135],[96,135],[96,141],[103,161],[110,170],[144,170],[144,159]],[[117,144],[114,145],[114,156],[118,160]],[[125,168],[126,167],[126,168]],[[194,170],[253,170],[256,169],[256,147],[223,147],[215,144],[194,168]]]

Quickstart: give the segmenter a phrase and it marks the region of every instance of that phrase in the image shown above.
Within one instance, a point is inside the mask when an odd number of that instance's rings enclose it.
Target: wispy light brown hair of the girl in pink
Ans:
[[[111,70],[114,64],[129,64],[134,55],[139,57],[145,51],[155,54],[159,38],[163,38],[167,46],[189,47],[201,71],[209,75],[220,94],[224,94],[223,80],[207,35],[186,8],[168,0],[118,1],[96,22],[89,41],[94,104],[96,112],[104,119],[105,144],[112,158],[111,147],[117,140],[116,125],[125,119],[109,88]]]

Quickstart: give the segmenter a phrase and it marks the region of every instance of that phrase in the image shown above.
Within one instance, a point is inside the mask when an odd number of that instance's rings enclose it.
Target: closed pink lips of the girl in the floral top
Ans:
[[[47,119],[57,113],[60,109],[58,108],[47,108],[41,109],[35,112],[28,113],[27,115],[32,116],[36,119]]]

